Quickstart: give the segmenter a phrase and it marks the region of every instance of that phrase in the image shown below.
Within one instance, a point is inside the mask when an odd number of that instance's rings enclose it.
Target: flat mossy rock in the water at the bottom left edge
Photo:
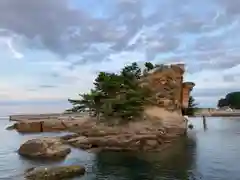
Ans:
[[[25,173],[28,180],[62,180],[85,174],[82,166],[62,166],[50,168],[32,168]]]

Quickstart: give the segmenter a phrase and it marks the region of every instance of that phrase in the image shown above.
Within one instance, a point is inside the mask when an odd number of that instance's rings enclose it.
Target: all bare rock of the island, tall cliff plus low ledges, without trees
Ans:
[[[21,121],[16,129],[28,131],[26,124],[34,125],[34,131],[68,130],[76,133],[63,137],[64,143],[81,149],[100,150],[159,150],[166,143],[184,134],[187,123],[182,108],[188,105],[193,83],[184,83],[184,65],[160,66],[142,76],[140,83],[151,90],[151,105],[145,107],[144,117],[137,122],[110,127],[94,120]],[[30,130],[29,130],[30,131]]]

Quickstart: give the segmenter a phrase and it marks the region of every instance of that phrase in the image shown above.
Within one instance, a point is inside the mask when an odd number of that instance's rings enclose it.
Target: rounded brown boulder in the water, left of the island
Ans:
[[[62,159],[71,149],[60,142],[57,138],[39,138],[28,140],[18,149],[21,156],[28,158]]]

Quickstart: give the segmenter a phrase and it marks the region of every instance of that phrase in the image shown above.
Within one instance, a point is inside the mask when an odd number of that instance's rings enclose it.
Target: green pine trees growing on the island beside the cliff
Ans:
[[[146,63],[149,71],[153,65]],[[125,66],[119,74],[100,72],[94,88],[88,94],[80,94],[80,100],[71,100],[74,112],[89,111],[98,119],[136,119],[142,115],[148,103],[150,90],[139,85],[142,70],[137,63]]]

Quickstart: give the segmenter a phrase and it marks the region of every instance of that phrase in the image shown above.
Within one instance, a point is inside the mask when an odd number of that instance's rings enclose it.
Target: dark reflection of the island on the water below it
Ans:
[[[190,179],[195,169],[196,143],[183,138],[168,151],[151,153],[102,152],[96,156],[96,180]]]

